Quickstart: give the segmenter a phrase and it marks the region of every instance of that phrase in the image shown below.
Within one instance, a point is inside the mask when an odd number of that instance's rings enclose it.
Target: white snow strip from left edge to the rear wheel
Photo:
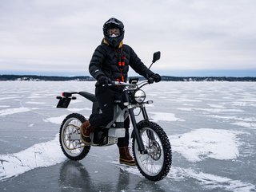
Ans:
[[[34,168],[50,167],[64,162],[65,159],[56,135],[54,140],[35,144],[24,151],[0,155],[0,180],[17,176]]]

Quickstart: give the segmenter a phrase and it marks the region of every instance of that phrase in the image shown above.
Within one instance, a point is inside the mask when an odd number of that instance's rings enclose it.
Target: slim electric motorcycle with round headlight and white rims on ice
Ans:
[[[160,58],[160,52],[154,53],[152,64]],[[152,65],[151,64],[151,65]],[[150,65],[150,67],[151,67]],[[124,121],[128,116],[133,126],[131,133],[134,160],[140,173],[149,180],[159,181],[165,178],[172,163],[171,147],[166,132],[157,123],[150,121],[146,112],[146,104],[153,100],[145,100],[146,93],[142,87],[154,80],[138,81],[130,78],[129,83],[114,81],[106,86],[122,86],[122,94],[114,100],[114,118],[106,126],[97,127],[90,134],[91,143],[85,145],[80,136],[80,126],[86,120],[78,113],[72,113],[63,120],[59,131],[60,146],[64,155],[71,160],[86,157],[90,147],[110,146],[118,143],[118,138],[125,137]],[[94,94],[90,92],[63,92],[57,96],[57,108],[68,108],[74,95],[80,95],[92,102],[92,114],[101,113]],[[138,108],[143,120],[136,121],[134,109]]]

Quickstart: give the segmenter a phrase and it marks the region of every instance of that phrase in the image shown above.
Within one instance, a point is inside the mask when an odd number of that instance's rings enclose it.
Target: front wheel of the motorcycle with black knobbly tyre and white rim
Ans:
[[[133,153],[138,170],[151,180],[159,181],[170,171],[171,147],[166,132],[157,123],[142,121],[137,125],[142,143],[147,151],[141,154],[136,137],[133,137]]]

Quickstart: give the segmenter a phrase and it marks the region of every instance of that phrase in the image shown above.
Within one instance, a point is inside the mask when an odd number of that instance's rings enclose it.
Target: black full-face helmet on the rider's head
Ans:
[[[119,29],[120,33],[118,33],[118,36],[115,37],[110,37],[108,34],[109,29]],[[125,30],[123,29],[124,25],[122,24],[121,21],[119,21],[116,18],[110,18],[109,20],[106,21],[103,25],[103,33],[106,41],[113,47],[117,47],[120,42],[123,40]]]

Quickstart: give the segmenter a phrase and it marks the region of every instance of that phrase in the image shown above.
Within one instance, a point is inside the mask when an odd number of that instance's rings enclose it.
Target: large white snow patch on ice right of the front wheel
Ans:
[[[239,156],[237,135],[242,131],[222,129],[197,129],[182,135],[169,136],[173,151],[183,155],[190,162],[203,159],[236,159]]]

